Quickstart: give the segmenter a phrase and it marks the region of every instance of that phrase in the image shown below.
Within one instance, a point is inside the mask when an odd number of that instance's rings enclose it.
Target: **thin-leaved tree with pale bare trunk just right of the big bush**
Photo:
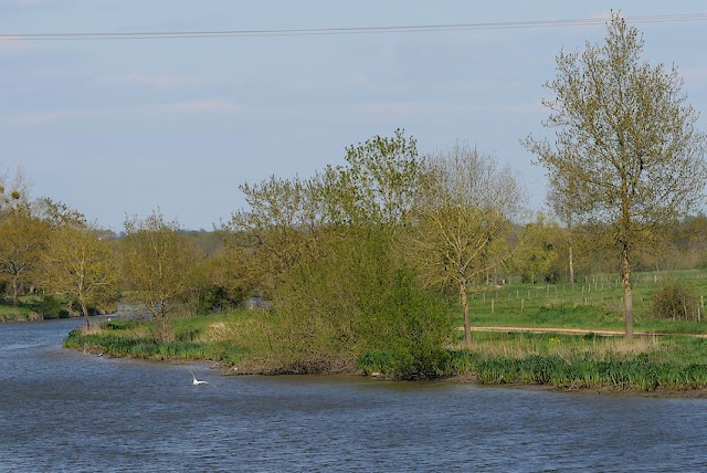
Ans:
[[[511,254],[505,236],[523,192],[510,169],[461,145],[431,157],[422,172],[404,246],[424,285],[456,288],[471,346],[469,286]]]

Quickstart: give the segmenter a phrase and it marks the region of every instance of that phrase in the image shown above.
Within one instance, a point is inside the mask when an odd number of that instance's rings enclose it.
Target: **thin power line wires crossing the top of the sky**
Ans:
[[[278,30],[212,30],[212,31],[139,31],[139,32],[84,32],[84,33],[2,33],[0,41],[95,41],[95,40],[168,40],[194,38],[260,38],[260,36],[314,36],[340,34],[419,33],[473,30],[513,30],[561,27],[590,27],[604,24],[605,18],[576,20],[500,21],[486,23],[421,24],[408,27],[355,27],[312,28]],[[659,14],[627,17],[631,23],[676,23],[707,20],[707,13]]]

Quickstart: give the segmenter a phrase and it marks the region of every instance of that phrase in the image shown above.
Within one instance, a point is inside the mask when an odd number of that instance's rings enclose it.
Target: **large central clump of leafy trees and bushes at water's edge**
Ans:
[[[347,165],[306,180],[243,186],[249,209],[230,224],[238,261],[268,290],[268,357],[287,371],[352,367],[390,350],[401,376],[439,376],[449,312],[419,291],[393,250],[409,223],[416,145],[401,130],[347,148]],[[404,374],[403,374],[404,372]]]

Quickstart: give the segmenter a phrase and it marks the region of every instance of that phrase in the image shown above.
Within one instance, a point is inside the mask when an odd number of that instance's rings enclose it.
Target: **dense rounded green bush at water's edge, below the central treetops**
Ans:
[[[450,311],[392,257],[384,231],[338,234],[326,257],[277,291],[272,344],[283,365],[351,367],[367,349],[394,354],[395,376],[437,377]]]

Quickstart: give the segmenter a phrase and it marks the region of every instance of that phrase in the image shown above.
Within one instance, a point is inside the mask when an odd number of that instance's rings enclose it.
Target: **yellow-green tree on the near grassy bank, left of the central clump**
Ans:
[[[125,231],[124,277],[134,290],[133,297],[152,315],[157,337],[169,339],[169,315],[189,290],[199,252],[191,240],[179,233],[179,223],[165,221],[159,211],[144,220],[126,220]]]

